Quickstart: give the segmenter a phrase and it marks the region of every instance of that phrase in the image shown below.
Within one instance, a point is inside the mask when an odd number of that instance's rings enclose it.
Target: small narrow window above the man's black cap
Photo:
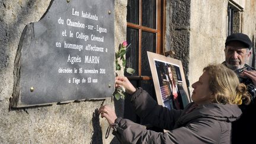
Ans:
[[[228,2],[228,36],[241,32],[241,11],[242,7],[234,2]]]

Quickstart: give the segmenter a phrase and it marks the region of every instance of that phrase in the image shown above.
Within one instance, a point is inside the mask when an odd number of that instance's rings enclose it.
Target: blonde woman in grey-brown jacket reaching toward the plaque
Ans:
[[[130,120],[117,118],[113,108],[100,107],[98,113],[113,128],[121,143],[231,143],[231,121],[241,116],[237,104],[249,103],[244,84],[224,65],[209,65],[195,82],[193,103],[184,110],[169,110],[158,105],[142,88],[136,89],[126,77],[116,77],[116,87],[130,94],[136,114],[153,126],[169,130],[165,133],[147,130]]]

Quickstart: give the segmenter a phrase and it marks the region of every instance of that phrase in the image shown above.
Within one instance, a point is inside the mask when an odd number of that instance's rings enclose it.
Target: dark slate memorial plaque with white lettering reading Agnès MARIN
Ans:
[[[12,107],[111,97],[114,1],[51,1],[24,28],[14,69]]]

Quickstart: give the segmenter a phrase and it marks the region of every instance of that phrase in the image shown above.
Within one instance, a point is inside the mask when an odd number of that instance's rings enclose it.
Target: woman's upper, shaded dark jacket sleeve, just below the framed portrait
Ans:
[[[148,92],[139,88],[131,99],[136,114],[146,122],[161,129],[172,130],[182,110],[169,110],[158,105]]]

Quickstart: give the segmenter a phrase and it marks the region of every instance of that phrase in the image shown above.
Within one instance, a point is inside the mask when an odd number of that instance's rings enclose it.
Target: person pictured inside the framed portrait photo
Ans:
[[[178,86],[175,82],[175,79],[172,75],[171,65],[167,65],[167,73],[169,79],[169,88],[171,90],[171,98],[172,98],[172,105],[176,110],[183,109],[183,103],[181,99],[180,92],[178,90]]]

